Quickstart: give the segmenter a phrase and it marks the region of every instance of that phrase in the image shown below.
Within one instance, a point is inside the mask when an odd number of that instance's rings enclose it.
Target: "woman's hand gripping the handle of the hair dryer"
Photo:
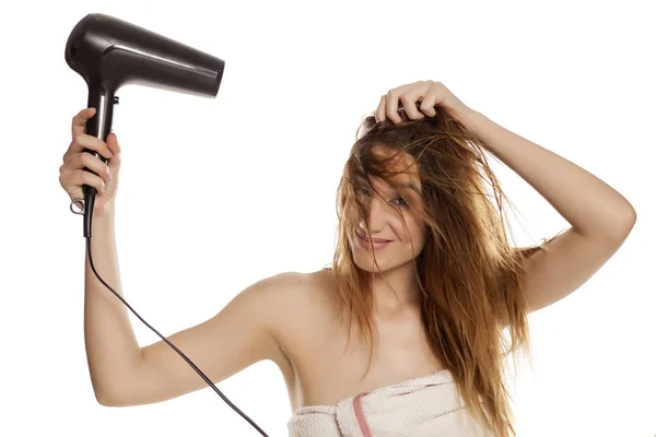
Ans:
[[[94,187],[98,193],[93,214],[97,216],[114,210],[120,169],[120,146],[114,133],[107,137],[106,143],[86,133],[86,120],[92,118],[95,113],[95,108],[85,108],[73,117],[72,141],[63,154],[63,164],[59,167],[59,184],[71,201],[79,198],[84,199],[83,185]],[[109,161],[105,164],[97,156],[85,152],[84,149],[97,152]],[[94,172],[95,175],[84,170],[84,167]]]

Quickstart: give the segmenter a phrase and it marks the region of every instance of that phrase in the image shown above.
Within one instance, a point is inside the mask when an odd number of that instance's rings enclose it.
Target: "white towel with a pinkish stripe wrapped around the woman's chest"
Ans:
[[[288,428],[290,437],[491,437],[462,405],[445,369],[336,405],[302,406]]]

